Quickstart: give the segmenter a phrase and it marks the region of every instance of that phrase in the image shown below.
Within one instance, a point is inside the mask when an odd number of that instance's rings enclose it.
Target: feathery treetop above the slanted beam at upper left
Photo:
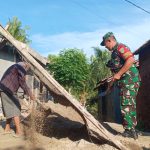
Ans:
[[[30,43],[31,41],[28,39],[28,35],[26,33],[27,30],[29,30],[28,26],[25,26],[24,29],[22,28],[21,21],[18,20],[17,17],[13,17],[11,20],[8,21],[9,27],[8,31],[9,33],[18,41],[21,41],[23,43]]]

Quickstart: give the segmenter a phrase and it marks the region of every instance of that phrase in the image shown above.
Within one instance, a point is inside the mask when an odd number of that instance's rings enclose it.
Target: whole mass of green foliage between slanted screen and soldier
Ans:
[[[97,91],[93,89],[98,81],[111,74],[106,67],[110,53],[99,47],[93,49],[95,55],[91,57],[90,62],[79,49],[64,49],[58,56],[49,55],[48,69],[62,86],[80,99],[81,103],[86,100],[87,110],[97,118],[98,97]]]

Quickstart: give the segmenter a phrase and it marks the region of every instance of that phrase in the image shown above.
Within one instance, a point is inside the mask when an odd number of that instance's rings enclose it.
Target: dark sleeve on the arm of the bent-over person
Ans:
[[[20,70],[18,72],[19,72],[20,87],[24,90],[25,94],[27,94],[28,96],[32,96],[32,92],[26,83],[25,74],[23,72],[21,72]]]

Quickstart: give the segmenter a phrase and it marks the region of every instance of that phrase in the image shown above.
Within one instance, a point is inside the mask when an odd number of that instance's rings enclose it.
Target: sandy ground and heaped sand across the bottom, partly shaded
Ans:
[[[22,122],[24,137],[3,135],[4,121],[0,126],[0,150],[115,150],[113,146],[93,142],[82,118],[71,107],[48,102],[47,111],[34,111]],[[103,125],[129,150],[150,150],[150,133],[140,132],[139,139],[123,138],[119,124],[105,122]],[[36,131],[35,131],[36,128]]]

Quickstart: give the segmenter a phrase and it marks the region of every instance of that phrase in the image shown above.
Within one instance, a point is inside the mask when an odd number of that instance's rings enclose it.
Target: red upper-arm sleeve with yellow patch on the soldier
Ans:
[[[119,51],[120,56],[124,60],[127,60],[130,57],[133,57],[133,53],[130,51],[130,49],[127,46],[123,45],[123,44],[118,46],[118,51]]]

